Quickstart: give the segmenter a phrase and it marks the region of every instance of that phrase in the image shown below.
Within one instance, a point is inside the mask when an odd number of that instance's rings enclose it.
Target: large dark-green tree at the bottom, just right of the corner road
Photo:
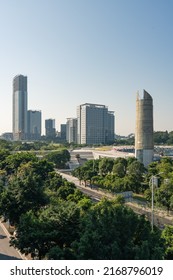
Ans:
[[[11,244],[25,254],[34,256],[37,252],[39,259],[46,255],[52,259],[52,250],[56,251],[57,258],[62,259],[60,255],[65,254],[69,259],[74,254],[68,257],[67,251],[72,251],[71,244],[79,236],[79,214],[78,207],[69,201],[50,205],[42,209],[39,216],[29,211],[21,216],[17,236]]]

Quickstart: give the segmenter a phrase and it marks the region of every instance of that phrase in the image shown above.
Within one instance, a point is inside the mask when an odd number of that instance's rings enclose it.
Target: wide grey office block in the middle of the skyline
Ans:
[[[105,105],[85,103],[77,108],[78,144],[114,142],[114,112]]]

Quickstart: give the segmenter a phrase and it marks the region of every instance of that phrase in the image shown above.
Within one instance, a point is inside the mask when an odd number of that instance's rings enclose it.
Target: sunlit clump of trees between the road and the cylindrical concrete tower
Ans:
[[[85,185],[97,186],[108,191],[119,193],[145,190],[143,164],[135,158],[101,158],[89,160],[73,171],[73,175],[84,181]]]

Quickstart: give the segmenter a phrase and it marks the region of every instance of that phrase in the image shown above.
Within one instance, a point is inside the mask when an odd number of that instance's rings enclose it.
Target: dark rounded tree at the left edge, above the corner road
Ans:
[[[44,187],[38,175],[29,174],[23,178],[13,178],[8,188],[1,193],[0,213],[17,224],[20,216],[32,209],[34,212],[47,204]]]

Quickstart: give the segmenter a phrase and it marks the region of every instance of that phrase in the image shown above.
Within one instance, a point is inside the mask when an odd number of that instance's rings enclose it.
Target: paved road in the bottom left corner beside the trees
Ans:
[[[9,245],[9,234],[0,222],[0,260],[22,260],[21,255]]]

